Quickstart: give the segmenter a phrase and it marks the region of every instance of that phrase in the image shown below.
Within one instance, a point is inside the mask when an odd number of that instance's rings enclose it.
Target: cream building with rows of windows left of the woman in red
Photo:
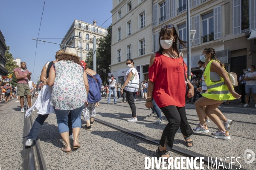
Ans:
[[[153,54],[151,0],[113,0],[111,73],[124,82],[126,59],[133,59],[140,81],[148,79]]]

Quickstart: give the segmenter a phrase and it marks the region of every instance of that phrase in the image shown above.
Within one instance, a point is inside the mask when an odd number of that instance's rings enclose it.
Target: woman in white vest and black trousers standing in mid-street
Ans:
[[[125,74],[125,82],[123,87],[121,88],[121,94],[125,92],[128,104],[130,105],[131,108],[132,117],[128,120],[128,122],[137,122],[134,95],[136,94],[136,92],[140,94],[140,77],[138,71],[134,67],[134,62],[132,59],[127,59],[126,65],[129,67],[129,70]]]

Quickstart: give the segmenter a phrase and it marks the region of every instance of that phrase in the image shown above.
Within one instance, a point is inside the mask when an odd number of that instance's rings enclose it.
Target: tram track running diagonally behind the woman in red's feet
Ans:
[[[125,129],[123,127],[119,127],[119,126],[113,125],[113,124],[111,124],[109,122],[105,122],[105,121],[100,120],[100,119],[94,118],[94,120],[96,122],[99,122],[102,125],[111,127],[111,128],[113,128],[115,130],[118,130],[118,131],[120,131],[122,133],[128,134],[128,135],[133,136],[133,137],[135,137],[137,139],[141,139],[141,140],[143,140],[145,142],[148,142],[150,144],[154,144],[156,146],[159,146],[159,142],[160,141],[157,140],[157,139],[151,138],[149,136],[145,136],[142,133],[137,133],[137,132]],[[193,152],[191,150],[184,149],[182,147],[173,146],[171,151],[175,152],[177,154],[180,154],[182,156],[185,156],[185,157],[193,157],[193,159],[195,159],[196,157],[204,157],[204,159],[202,159],[202,161],[204,161],[204,164],[206,164],[208,166],[211,166],[211,167],[214,167],[214,168],[219,169],[219,170],[229,170],[230,169],[230,168],[228,168],[228,169],[224,168],[224,167],[229,167],[229,165],[225,163],[225,166],[223,166],[222,165],[223,163],[220,160],[218,160],[218,159],[215,160],[214,158],[211,158],[209,156],[205,156],[205,155],[202,155],[200,153],[196,153],[196,152]],[[212,161],[209,161],[209,160],[212,160]],[[197,161],[199,162],[199,160],[197,160]],[[217,163],[216,164],[212,164],[215,161]],[[223,166],[223,168],[221,166]],[[237,166],[232,166],[232,167],[235,168],[235,169],[245,170],[245,169],[237,167]]]

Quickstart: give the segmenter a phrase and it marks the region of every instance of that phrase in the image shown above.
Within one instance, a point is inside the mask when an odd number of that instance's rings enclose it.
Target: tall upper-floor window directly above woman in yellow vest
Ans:
[[[202,37],[201,42],[208,42],[213,40],[214,35],[214,22],[213,22],[213,11],[202,15]]]

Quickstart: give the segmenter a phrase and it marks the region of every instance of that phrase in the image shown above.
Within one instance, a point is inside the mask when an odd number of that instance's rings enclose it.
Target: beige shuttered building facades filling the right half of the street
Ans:
[[[144,4],[140,6],[143,2]],[[126,6],[123,6],[124,4]],[[130,13],[127,8],[129,4],[133,10]],[[119,72],[122,73],[130,41],[133,42],[131,58],[134,59],[135,65],[140,65],[141,80],[147,79],[149,58],[159,49],[159,33],[162,25],[174,25],[179,37],[187,41],[186,5],[186,0],[113,0],[112,30],[116,32],[112,34],[111,72],[117,72],[118,77]],[[190,0],[188,5],[190,29],[197,31],[194,42],[190,42],[193,74],[201,78],[202,71],[197,63],[204,48],[208,47],[215,48],[218,59],[225,64],[227,71],[235,72],[238,76],[242,73],[242,69],[256,65],[256,0]],[[140,23],[140,12],[144,8],[146,9],[145,26],[151,23],[153,25],[140,32],[137,23]],[[121,15],[119,11],[122,12]],[[128,36],[129,20],[134,21],[134,24],[132,24],[132,34]],[[118,34],[120,28],[121,36]],[[140,47],[141,37],[146,38],[145,54],[148,55],[145,57],[136,55],[139,54],[137,47]],[[183,52],[184,61],[187,62],[187,48],[179,48]],[[121,60],[118,59],[119,49],[122,51]]]

